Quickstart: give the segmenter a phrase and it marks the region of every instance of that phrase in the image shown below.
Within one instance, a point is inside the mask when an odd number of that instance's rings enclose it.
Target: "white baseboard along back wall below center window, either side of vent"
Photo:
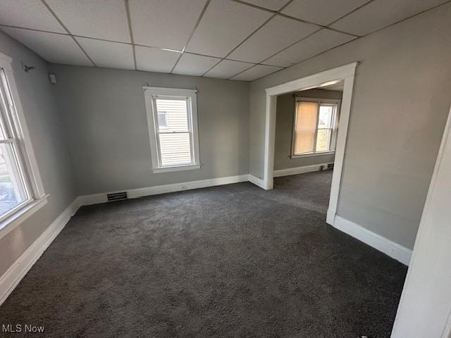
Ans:
[[[232,184],[238,182],[247,182],[249,175],[237,175],[228,177],[210,178],[208,180],[199,180],[191,182],[180,182],[173,184],[156,185],[154,187],[144,187],[137,189],[125,189],[129,199],[136,199],[137,197],[167,194],[168,192],[182,192],[184,190],[199,189],[206,187],[215,187],[217,185]],[[101,194],[91,194],[78,196],[78,200],[81,206],[87,206],[89,204],[99,204],[107,202],[106,194],[110,192],[104,192]]]

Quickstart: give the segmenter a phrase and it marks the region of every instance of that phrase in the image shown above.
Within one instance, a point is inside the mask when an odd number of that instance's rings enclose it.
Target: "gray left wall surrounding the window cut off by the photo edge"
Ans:
[[[0,51],[13,58],[13,71],[39,173],[49,203],[0,239],[0,275],[35,242],[51,222],[75,199],[75,185],[56,108],[54,87],[47,80],[47,63],[22,44],[0,32]],[[34,65],[25,73],[20,62]]]

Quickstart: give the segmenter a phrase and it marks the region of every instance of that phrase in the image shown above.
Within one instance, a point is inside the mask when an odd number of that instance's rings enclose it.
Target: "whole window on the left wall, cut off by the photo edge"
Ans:
[[[0,53],[0,238],[47,201],[27,135],[11,58]]]

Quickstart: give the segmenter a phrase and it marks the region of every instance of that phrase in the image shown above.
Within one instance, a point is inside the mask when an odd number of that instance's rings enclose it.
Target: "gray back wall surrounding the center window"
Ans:
[[[249,83],[53,65],[78,194],[249,173]],[[197,88],[202,168],[152,173],[142,86]]]

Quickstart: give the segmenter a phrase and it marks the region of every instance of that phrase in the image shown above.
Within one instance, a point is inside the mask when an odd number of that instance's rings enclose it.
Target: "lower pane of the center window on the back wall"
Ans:
[[[190,133],[159,134],[161,165],[191,164]]]

